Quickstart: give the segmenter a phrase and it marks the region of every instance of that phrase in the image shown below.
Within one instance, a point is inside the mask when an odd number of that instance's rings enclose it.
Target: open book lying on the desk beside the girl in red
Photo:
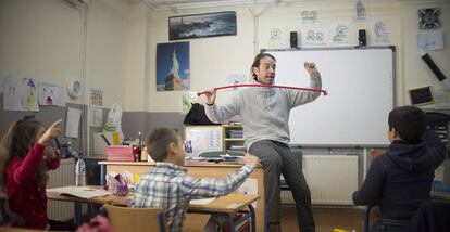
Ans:
[[[90,188],[90,186],[62,186],[62,188],[48,189],[47,192],[57,193],[59,195],[76,196],[76,197],[86,198],[86,199],[112,194],[105,190]]]

